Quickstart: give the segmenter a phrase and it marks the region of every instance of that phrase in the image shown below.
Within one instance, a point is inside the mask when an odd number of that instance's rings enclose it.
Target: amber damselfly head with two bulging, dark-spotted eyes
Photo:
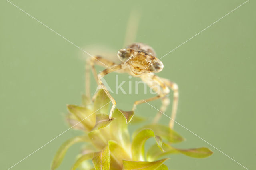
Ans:
[[[154,55],[154,49],[142,43],[133,43],[128,48],[118,51],[118,58],[136,75],[162,71],[164,64]]]

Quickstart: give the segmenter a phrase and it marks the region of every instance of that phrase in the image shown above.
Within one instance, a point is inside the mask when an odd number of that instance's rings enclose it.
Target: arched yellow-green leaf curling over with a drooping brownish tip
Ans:
[[[133,141],[132,141],[132,159],[136,160],[136,161],[144,161],[144,144],[146,142],[146,140],[148,140],[148,138],[154,137],[156,140],[156,144],[158,145],[158,147],[160,148],[160,150],[162,149],[162,139],[159,136],[156,136],[154,134],[154,131],[146,128],[146,129],[142,129],[140,130],[136,136],[134,137]]]

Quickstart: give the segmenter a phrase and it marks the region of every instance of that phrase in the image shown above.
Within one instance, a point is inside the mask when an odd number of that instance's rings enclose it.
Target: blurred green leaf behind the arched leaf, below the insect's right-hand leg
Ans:
[[[184,141],[184,138],[182,138],[182,136],[180,136],[177,132],[170,129],[166,125],[148,124],[148,125],[145,125],[142,128],[152,129],[155,132],[156,135],[160,136],[161,138],[164,138],[164,139],[168,140],[168,142],[171,142],[171,143],[178,143],[178,142]]]

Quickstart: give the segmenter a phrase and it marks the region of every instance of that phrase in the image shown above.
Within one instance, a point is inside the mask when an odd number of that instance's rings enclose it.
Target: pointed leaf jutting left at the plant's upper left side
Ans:
[[[68,111],[78,119],[78,122],[81,121],[88,131],[94,127],[96,119],[95,116],[90,115],[93,113],[90,109],[82,106],[68,105]]]

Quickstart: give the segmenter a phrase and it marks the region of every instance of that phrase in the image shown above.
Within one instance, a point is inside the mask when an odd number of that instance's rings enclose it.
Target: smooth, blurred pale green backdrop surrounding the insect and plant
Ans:
[[[136,41],[151,45],[161,57],[245,1],[12,2],[85,51],[91,44],[122,48],[130,12],[138,10]],[[179,85],[176,121],[249,169],[256,169],[255,5],[250,0],[164,57],[165,68],[158,73]],[[0,13],[0,169],[8,169],[69,128],[66,104],[81,103],[88,55],[6,0],[0,2]],[[110,87],[114,77],[106,77]],[[128,75],[119,79],[129,80]],[[93,93],[93,79],[92,85]],[[123,87],[128,90],[128,83]],[[129,110],[135,100],[151,95],[113,96],[118,108]],[[150,104],[159,107],[160,101]],[[149,121],[155,113],[147,104],[136,110]],[[167,117],[161,121],[168,123]],[[171,156],[166,161],[170,169],[244,169],[180,125],[174,129],[186,138],[177,147],[207,146],[214,154],[206,159]],[[49,169],[60,144],[77,134],[68,130],[12,169]],[[70,169],[79,150],[79,144],[73,146],[59,169]]]

